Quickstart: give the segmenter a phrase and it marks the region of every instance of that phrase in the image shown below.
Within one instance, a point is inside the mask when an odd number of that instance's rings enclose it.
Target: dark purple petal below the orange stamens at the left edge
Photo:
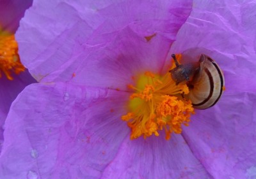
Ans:
[[[24,71],[20,75],[13,74],[13,78],[12,81],[5,76],[0,78],[0,151],[3,143],[4,121],[12,102],[27,85],[36,82],[28,71]]]

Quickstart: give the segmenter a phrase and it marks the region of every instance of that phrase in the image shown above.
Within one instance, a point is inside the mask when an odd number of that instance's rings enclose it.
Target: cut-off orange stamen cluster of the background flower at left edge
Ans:
[[[8,80],[13,80],[11,72],[19,74],[24,70],[24,66],[20,63],[18,44],[14,35],[0,30],[0,78],[3,72]]]

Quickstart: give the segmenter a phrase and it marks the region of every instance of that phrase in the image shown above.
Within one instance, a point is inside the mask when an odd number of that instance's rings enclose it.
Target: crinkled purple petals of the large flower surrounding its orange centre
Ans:
[[[29,85],[10,109],[0,176],[255,177],[256,4],[191,6],[35,1],[17,40],[22,62],[40,83]],[[195,111],[171,140],[164,132],[130,140],[120,120],[131,95],[127,85],[141,71],[164,71],[172,53],[211,55],[227,90],[216,106]]]

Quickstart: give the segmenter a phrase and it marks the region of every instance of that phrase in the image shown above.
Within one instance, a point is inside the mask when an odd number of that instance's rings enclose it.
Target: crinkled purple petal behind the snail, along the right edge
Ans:
[[[194,1],[172,46],[172,53],[208,54],[224,72],[220,102],[196,111],[182,133],[213,178],[256,177],[255,12],[255,1]]]

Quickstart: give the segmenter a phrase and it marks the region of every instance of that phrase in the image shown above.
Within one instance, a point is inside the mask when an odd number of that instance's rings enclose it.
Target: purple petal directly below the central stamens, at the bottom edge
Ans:
[[[164,134],[162,134],[164,135]],[[182,136],[125,138],[102,178],[211,178]]]

